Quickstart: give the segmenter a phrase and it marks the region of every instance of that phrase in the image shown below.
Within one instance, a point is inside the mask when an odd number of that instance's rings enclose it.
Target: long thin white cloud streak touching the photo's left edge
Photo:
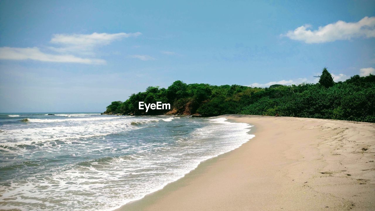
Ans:
[[[43,53],[37,47],[33,48],[12,48],[0,47],[0,59],[9,60],[37,60],[42,62],[61,62],[61,63],[82,63],[82,64],[105,64],[103,59],[88,59],[76,57],[69,54],[48,54]]]

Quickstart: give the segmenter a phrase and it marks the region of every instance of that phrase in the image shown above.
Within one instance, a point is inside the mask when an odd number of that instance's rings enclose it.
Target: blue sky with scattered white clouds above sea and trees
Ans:
[[[375,74],[375,1],[302,2],[0,1],[0,112],[103,112],[175,80]]]

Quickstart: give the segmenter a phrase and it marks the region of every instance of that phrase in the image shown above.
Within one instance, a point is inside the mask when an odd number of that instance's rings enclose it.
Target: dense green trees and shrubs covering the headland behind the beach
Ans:
[[[138,101],[170,103],[172,110],[138,110]],[[248,114],[294,116],[375,122],[375,75],[354,75],[335,83],[323,69],[320,83],[269,88],[240,85],[212,86],[175,81],[167,89],[150,86],[125,102],[108,105],[106,113],[124,115],[177,114],[217,116]]]

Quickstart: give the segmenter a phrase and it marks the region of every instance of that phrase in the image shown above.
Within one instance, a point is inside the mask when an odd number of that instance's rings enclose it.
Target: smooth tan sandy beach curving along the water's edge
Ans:
[[[375,124],[224,117],[255,137],[119,210],[375,210]]]

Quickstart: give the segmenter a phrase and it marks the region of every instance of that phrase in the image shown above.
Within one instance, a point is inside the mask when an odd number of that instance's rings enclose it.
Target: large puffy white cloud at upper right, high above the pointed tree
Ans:
[[[336,23],[320,26],[318,30],[309,30],[311,25],[300,26],[294,31],[288,31],[287,36],[293,40],[306,43],[333,42],[336,40],[349,40],[351,38],[375,37],[375,17],[364,17],[356,23],[337,21]]]

